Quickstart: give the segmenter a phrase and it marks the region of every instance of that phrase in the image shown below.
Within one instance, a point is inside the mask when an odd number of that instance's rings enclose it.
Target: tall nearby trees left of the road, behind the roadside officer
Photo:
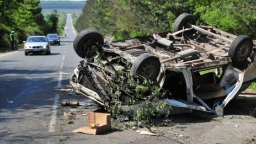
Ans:
[[[44,34],[46,22],[41,14],[39,0],[0,0],[0,45],[7,46],[11,30],[19,41],[30,35]]]

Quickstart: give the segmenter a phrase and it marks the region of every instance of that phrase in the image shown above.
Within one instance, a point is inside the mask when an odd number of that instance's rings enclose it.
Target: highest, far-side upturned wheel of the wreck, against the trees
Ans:
[[[180,14],[179,17],[175,20],[173,26],[173,33],[176,31],[182,30],[183,28],[190,28],[187,24],[195,25],[195,18],[193,15],[189,13]],[[192,31],[186,31],[185,35],[191,34]],[[183,35],[184,35],[183,34]],[[182,34],[178,34],[178,36],[182,36]]]

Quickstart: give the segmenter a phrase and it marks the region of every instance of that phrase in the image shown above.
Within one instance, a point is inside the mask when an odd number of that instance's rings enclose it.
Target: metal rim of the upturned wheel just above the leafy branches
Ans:
[[[149,61],[149,62],[146,62],[145,65],[143,65],[139,73],[143,77],[150,79],[154,75],[155,71],[156,71],[156,65],[154,65],[154,62]]]

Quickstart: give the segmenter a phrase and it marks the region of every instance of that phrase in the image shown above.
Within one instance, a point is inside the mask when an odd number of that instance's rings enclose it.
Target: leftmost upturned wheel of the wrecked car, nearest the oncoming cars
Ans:
[[[97,30],[86,29],[76,36],[73,46],[78,56],[92,58],[96,54],[94,46],[103,44],[103,36]]]

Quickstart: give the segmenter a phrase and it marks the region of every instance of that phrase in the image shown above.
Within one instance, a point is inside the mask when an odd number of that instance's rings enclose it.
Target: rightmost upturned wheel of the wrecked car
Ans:
[[[247,60],[253,49],[253,41],[247,35],[238,35],[230,45],[228,56],[233,63],[242,63]]]

